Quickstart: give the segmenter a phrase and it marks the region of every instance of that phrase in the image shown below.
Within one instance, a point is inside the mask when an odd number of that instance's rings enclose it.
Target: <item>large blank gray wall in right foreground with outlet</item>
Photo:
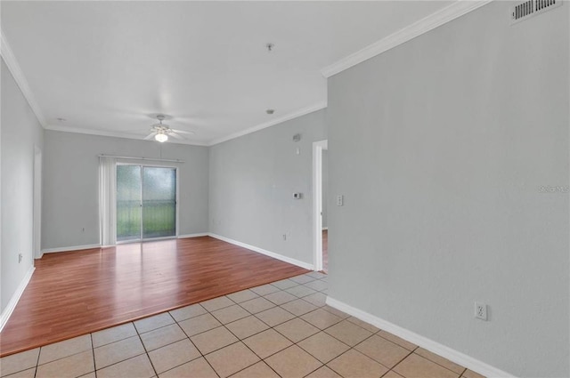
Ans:
[[[568,6],[493,2],[329,80],[330,296],[569,376]],[[474,318],[474,301],[490,320]]]

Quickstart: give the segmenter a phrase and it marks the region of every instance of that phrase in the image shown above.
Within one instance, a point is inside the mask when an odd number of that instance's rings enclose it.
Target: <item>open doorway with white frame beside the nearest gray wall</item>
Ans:
[[[326,207],[326,196],[328,189],[328,155],[323,155],[324,151],[328,151],[328,141],[313,142],[313,247],[314,247],[314,269],[329,270],[329,228]],[[324,154],[327,154],[324,152]],[[324,159],[323,160],[323,156]],[[324,163],[323,163],[324,162]],[[323,166],[327,169],[327,173],[323,175]],[[324,176],[324,182],[323,182]],[[324,183],[324,185],[323,185]],[[324,206],[323,206],[324,204]],[[324,226],[324,227],[323,227]],[[324,229],[326,228],[326,229]],[[326,249],[325,249],[326,248]]]

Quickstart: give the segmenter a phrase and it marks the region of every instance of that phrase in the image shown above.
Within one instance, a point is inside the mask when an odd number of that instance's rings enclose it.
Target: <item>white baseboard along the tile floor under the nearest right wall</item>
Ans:
[[[515,375],[503,372],[502,370],[485,364],[485,362],[479,361],[476,358],[469,357],[466,354],[461,353],[460,351],[453,350],[452,348],[446,347],[439,342],[434,342],[433,340],[428,339],[422,335],[416,334],[411,332],[408,329],[405,329],[401,326],[396,326],[393,323],[388,322],[382,318],[378,318],[374,315],[369,314],[368,312],[358,310],[344,302],[337,301],[334,298],[327,297],[327,304],[330,307],[334,307],[337,310],[341,310],[346,312],[346,314],[352,315],[354,318],[359,318],[366,323],[371,324],[372,326],[377,326],[384,331],[389,332],[390,334],[395,334],[398,337],[403,338],[408,342],[412,342],[421,348],[426,350],[432,351],[439,356],[447,358],[460,366],[465,366],[469,370],[472,370],[478,374],[483,374],[488,378],[493,377],[514,377]]]

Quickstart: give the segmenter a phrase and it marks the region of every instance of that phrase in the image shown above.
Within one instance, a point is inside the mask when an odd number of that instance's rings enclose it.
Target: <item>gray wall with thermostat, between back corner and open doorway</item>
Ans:
[[[326,139],[324,113],[210,148],[210,232],[313,264],[312,149]]]

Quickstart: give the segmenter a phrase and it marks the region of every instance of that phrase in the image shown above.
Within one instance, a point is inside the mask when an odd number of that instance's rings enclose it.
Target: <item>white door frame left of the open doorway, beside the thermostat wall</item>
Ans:
[[[314,270],[322,270],[322,150],[329,141],[313,142],[313,255]]]

